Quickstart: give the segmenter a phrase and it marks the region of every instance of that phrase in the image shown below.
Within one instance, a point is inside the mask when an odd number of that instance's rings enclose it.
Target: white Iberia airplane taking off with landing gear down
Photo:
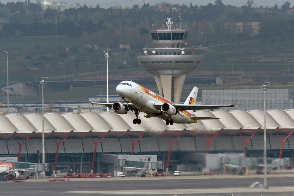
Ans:
[[[193,111],[224,107],[234,107],[235,105],[195,105],[198,88],[194,87],[184,104],[175,104],[171,101],[153,93],[152,91],[138,85],[132,81],[123,81],[116,86],[116,92],[126,103],[97,103],[91,104],[106,105],[118,114],[126,114],[132,110],[136,114],[134,124],[141,124],[138,118],[140,112],[144,112],[146,118],[159,117],[166,121],[166,125],[173,123],[197,123],[197,120],[220,119],[211,117],[198,117],[193,115]]]

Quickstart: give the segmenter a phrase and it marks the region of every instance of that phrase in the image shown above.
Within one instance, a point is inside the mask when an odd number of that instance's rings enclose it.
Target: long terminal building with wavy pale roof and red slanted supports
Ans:
[[[101,172],[114,176],[132,164],[158,163],[157,171],[182,168],[201,171],[207,166],[197,153],[245,153],[262,157],[263,110],[196,111],[196,116],[220,120],[198,120],[193,124],[166,125],[159,118],[144,118],[133,124],[131,112],[45,113],[46,175],[64,172]],[[42,115],[0,115],[1,157],[18,157],[38,163],[42,153]],[[267,110],[267,150],[273,158],[291,157],[294,150],[294,110]],[[105,155],[122,156],[110,158]],[[153,156],[152,160],[148,157]],[[156,158],[154,158],[156,157]],[[145,160],[146,159],[146,160]],[[127,165],[128,163],[128,165]]]

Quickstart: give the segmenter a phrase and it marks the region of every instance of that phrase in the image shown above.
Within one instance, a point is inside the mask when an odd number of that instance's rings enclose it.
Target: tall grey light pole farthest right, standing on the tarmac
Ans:
[[[263,165],[264,165],[264,187],[268,188],[267,185],[267,170],[268,164],[266,161],[266,120],[265,120],[265,91],[270,86],[270,82],[263,82],[262,90],[263,90],[263,101],[264,101],[264,145],[263,145]]]

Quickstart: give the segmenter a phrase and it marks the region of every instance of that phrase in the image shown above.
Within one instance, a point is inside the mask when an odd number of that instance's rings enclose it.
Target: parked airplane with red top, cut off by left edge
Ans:
[[[8,180],[6,176],[10,176],[12,178],[19,177],[19,171],[31,170],[35,168],[27,168],[27,169],[15,169],[12,163],[4,162],[0,163],[0,181]]]

